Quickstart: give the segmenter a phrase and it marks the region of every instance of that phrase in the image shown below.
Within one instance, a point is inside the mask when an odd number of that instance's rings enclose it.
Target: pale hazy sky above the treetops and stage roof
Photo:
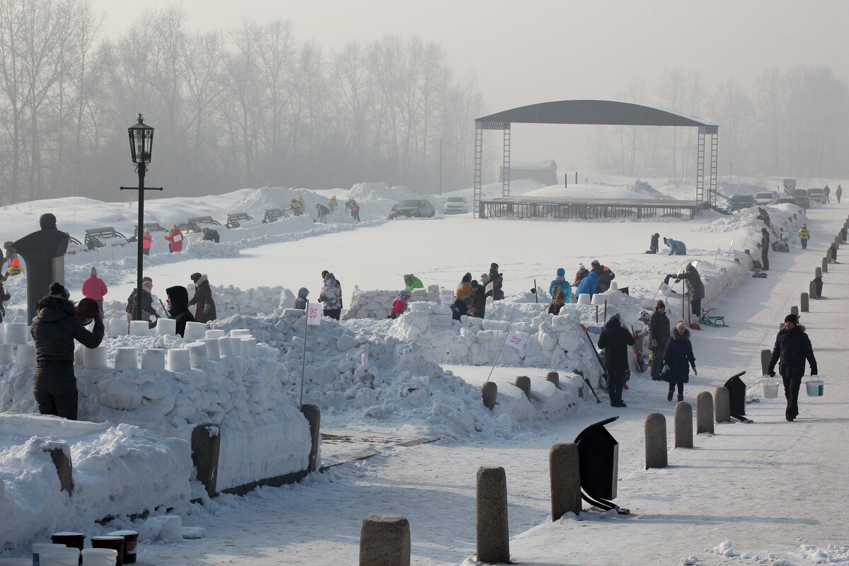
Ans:
[[[166,8],[171,0],[147,0]],[[325,53],[387,33],[441,44],[458,75],[473,73],[487,113],[571,98],[620,99],[634,76],[649,88],[664,68],[698,70],[708,85],[749,87],[762,70],[827,65],[849,80],[845,0],[611,2],[569,0],[183,0],[188,29],[235,25],[243,17],[289,19],[295,37]],[[93,0],[117,36],[140,15],[133,3]],[[138,10],[135,13],[133,10]],[[513,132],[517,159],[582,165],[575,144],[586,126],[525,126]],[[486,137],[495,150],[496,137]],[[720,136],[721,137],[721,136]],[[556,147],[554,147],[556,146]]]

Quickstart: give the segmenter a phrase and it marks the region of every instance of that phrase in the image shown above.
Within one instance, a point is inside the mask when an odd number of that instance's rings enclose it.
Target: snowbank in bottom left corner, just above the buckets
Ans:
[[[70,455],[72,495],[59,489],[48,450]],[[0,414],[3,551],[60,530],[90,532],[110,515],[183,507],[190,496],[190,447],[127,424]]]

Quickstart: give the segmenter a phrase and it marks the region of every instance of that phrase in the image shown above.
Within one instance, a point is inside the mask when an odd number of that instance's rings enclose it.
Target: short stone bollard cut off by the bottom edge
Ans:
[[[410,524],[400,515],[375,513],[360,529],[360,566],[410,566]]]

